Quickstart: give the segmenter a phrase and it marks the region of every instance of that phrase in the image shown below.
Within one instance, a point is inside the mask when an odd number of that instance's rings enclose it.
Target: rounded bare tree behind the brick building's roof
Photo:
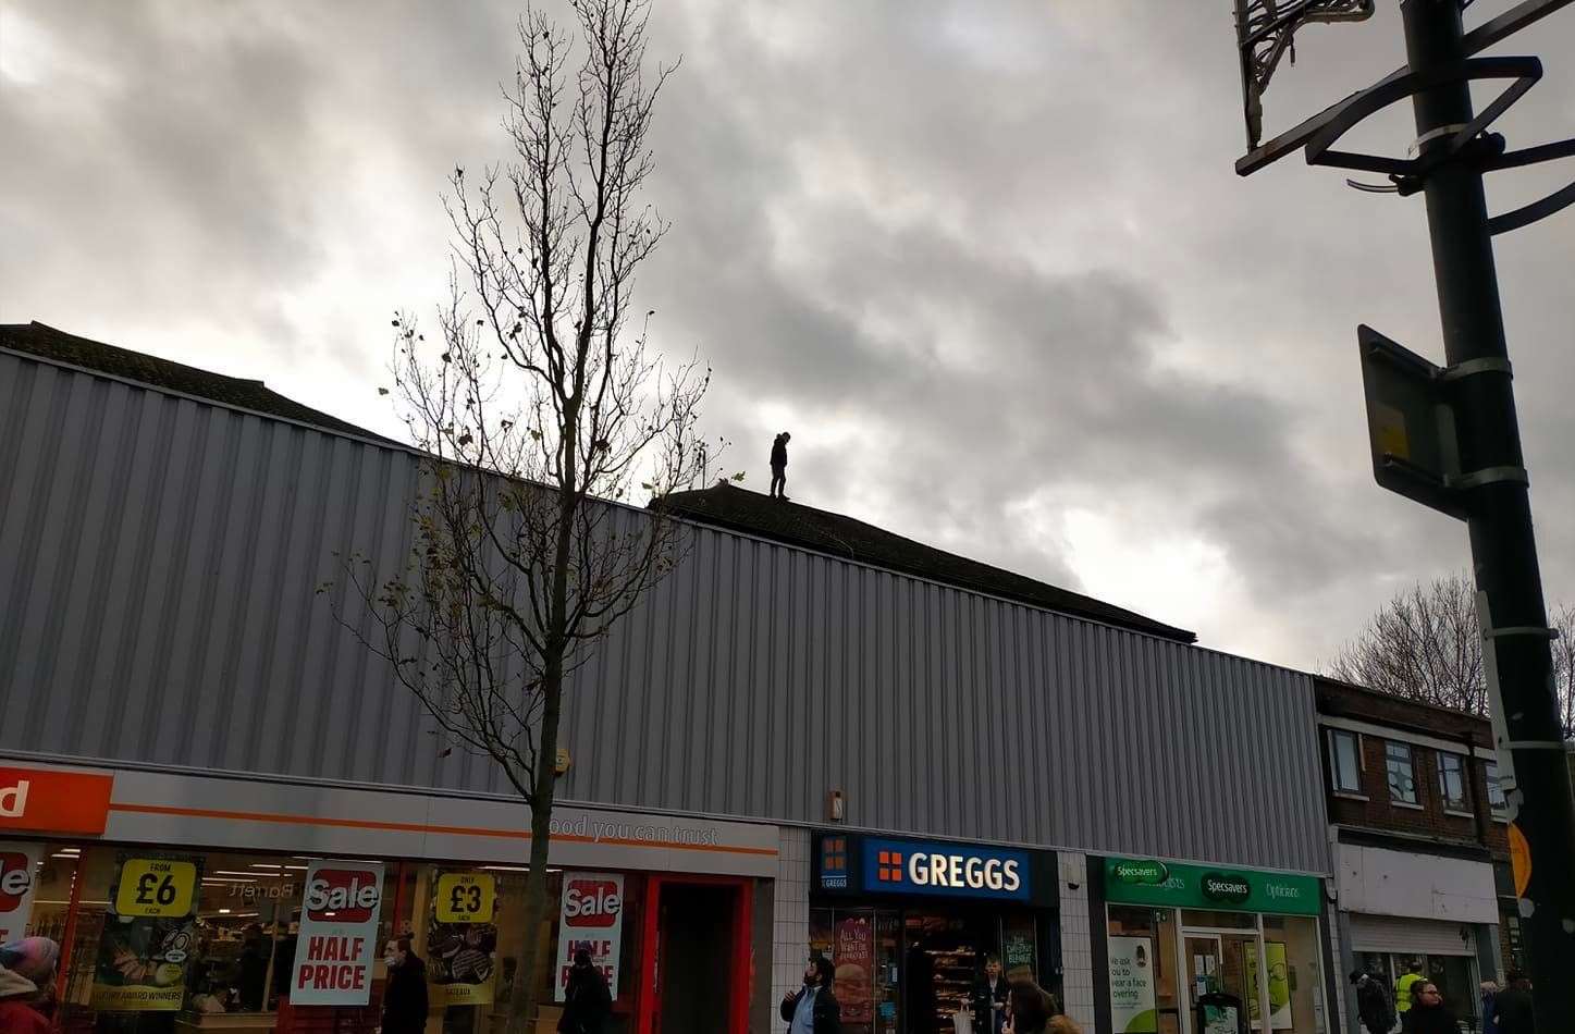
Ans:
[[[1575,737],[1575,607],[1555,609],[1553,669],[1564,735]],[[1488,716],[1476,587],[1455,573],[1395,595],[1326,672],[1408,700]]]

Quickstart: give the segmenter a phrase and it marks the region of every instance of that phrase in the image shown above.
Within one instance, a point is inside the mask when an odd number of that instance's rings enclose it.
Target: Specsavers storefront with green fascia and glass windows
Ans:
[[[1102,875],[1109,1029],[1334,1029],[1321,880],[1131,858],[1104,859]]]

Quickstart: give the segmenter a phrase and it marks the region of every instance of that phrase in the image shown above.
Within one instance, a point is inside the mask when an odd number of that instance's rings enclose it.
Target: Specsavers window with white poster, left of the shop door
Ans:
[[[1115,1029],[1180,1034],[1181,980],[1177,974],[1177,925],[1169,908],[1110,905],[1107,913],[1110,1012]],[[1153,1023],[1145,1014],[1153,1014]]]

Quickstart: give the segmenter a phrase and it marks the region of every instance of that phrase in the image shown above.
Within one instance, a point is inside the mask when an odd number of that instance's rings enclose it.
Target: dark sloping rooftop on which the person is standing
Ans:
[[[1112,603],[969,560],[841,513],[776,500],[728,483],[674,493],[660,500],[660,505],[699,524],[745,532],[1175,642],[1197,642],[1197,636],[1184,628],[1164,625]]]

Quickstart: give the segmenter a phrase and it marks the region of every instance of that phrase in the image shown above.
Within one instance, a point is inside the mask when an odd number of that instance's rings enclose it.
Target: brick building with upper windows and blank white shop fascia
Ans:
[[[1479,982],[1520,963],[1492,726],[1325,678],[1315,692],[1342,969],[1394,987],[1421,962],[1473,1017]]]

